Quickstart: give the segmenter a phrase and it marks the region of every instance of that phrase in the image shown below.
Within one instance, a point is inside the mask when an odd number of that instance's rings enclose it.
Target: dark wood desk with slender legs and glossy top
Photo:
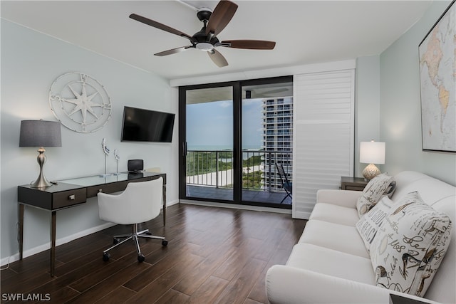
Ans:
[[[80,177],[57,181],[51,187],[31,188],[30,185],[18,186],[19,202],[19,259],[24,250],[24,209],[25,206],[51,211],[51,276],[54,276],[56,260],[56,212],[86,203],[98,192],[113,193],[125,190],[130,182],[145,182],[163,177],[163,225],[166,224],[166,174],[140,172],[100,177]]]

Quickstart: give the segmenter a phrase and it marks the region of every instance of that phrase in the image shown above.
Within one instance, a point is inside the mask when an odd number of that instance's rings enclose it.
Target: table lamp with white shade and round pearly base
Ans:
[[[359,147],[359,162],[368,164],[363,169],[363,177],[369,181],[380,174],[375,164],[385,164],[385,142],[361,142]]]

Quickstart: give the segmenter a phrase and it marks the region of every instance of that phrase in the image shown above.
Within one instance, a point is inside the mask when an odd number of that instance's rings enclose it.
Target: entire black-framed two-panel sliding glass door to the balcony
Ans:
[[[291,209],[292,93],[291,77],[181,87],[180,199]]]

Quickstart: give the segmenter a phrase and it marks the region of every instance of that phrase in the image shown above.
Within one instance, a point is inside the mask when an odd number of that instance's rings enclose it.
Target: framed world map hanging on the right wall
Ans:
[[[423,150],[456,152],[456,5],[432,26],[419,48]]]

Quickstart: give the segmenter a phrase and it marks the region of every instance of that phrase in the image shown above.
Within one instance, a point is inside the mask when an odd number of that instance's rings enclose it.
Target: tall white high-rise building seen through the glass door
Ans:
[[[291,182],[293,171],[293,98],[263,100],[263,149],[265,190],[282,190],[276,163],[283,164]]]

